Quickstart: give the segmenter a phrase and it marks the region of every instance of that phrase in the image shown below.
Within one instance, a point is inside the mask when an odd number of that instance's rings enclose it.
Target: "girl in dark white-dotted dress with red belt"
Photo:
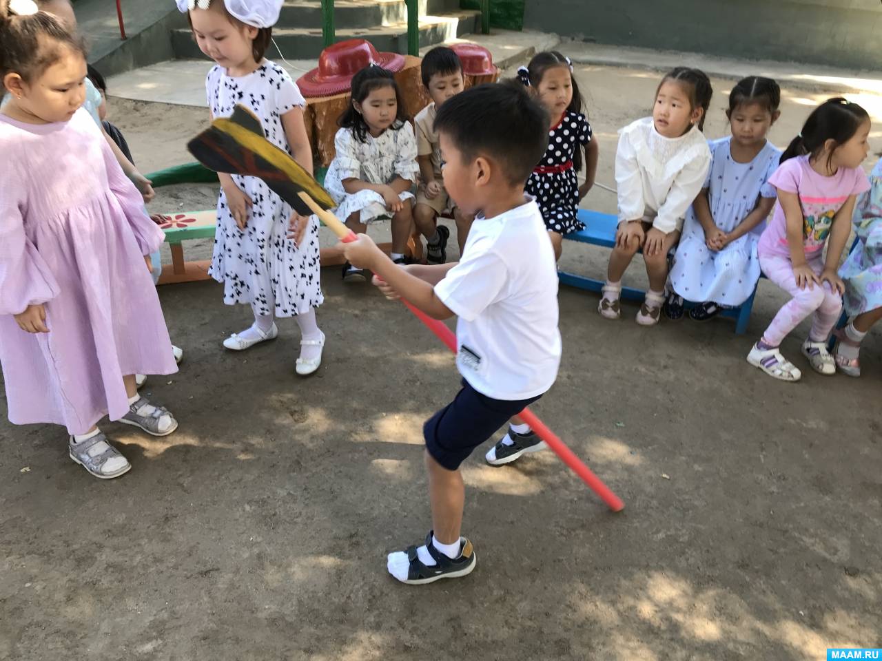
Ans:
[[[549,113],[548,150],[527,179],[526,190],[539,204],[555,257],[559,259],[564,234],[585,228],[576,214],[579,201],[594,186],[597,143],[592,139],[591,124],[582,114],[584,100],[572,77],[569,57],[556,50],[538,53],[526,67],[520,67],[518,78]],[[583,163],[585,183],[579,186],[578,174]]]

